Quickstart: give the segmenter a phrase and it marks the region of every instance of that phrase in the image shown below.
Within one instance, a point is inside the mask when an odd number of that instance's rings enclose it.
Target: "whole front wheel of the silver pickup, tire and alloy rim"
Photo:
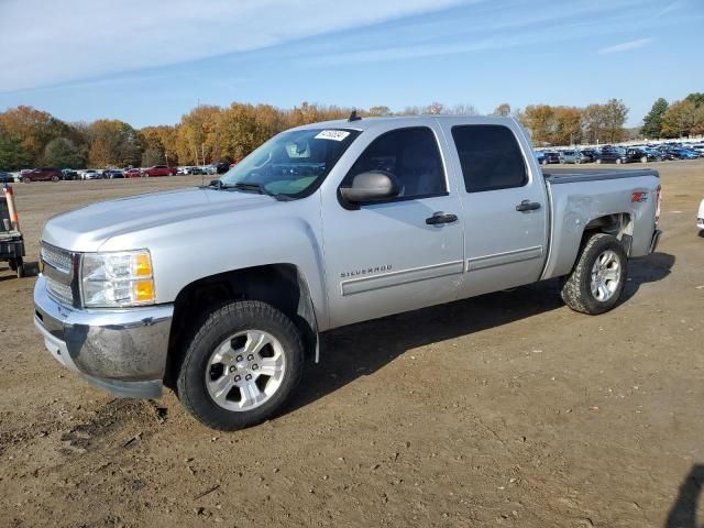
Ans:
[[[237,301],[206,319],[178,374],[178,397],[201,424],[234,431],[272,417],[298,385],[304,346],[271,305]]]

